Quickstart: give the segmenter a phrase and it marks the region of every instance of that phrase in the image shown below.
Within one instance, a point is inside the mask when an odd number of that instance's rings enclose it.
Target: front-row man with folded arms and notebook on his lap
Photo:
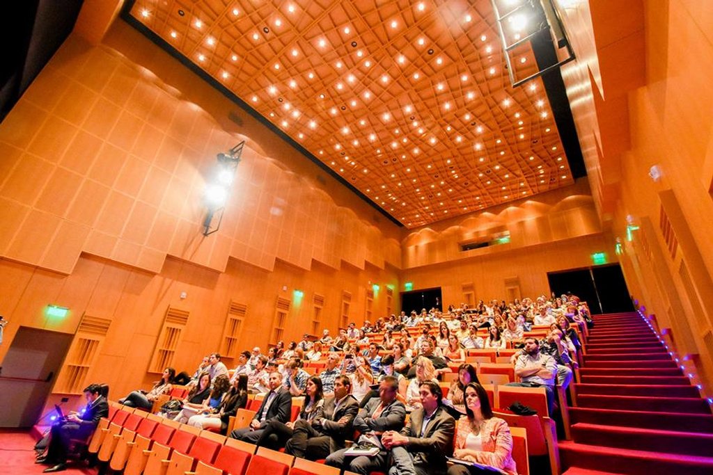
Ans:
[[[361,432],[359,444],[370,443],[380,447],[381,434],[404,427],[406,407],[396,400],[397,392],[399,381],[395,377],[386,376],[381,380],[379,399],[369,400],[354,419],[354,429]],[[364,475],[369,475],[372,471],[386,471],[389,453],[384,447],[374,456],[349,456],[344,454],[346,451],[347,449],[342,449],[330,454],[327,457],[327,465]]]

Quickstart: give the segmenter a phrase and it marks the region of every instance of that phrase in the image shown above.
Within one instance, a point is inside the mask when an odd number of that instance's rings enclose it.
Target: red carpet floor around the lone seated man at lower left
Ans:
[[[35,451],[32,449],[36,439],[29,431],[24,432],[0,432],[0,474],[2,475],[37,475],[41,474],[45,465],[35,464]],[[96,469],[88,469],[86,466],[76,468],[76,465],[69,464],[66,471],[61,472],[67,475],[96,475]]]

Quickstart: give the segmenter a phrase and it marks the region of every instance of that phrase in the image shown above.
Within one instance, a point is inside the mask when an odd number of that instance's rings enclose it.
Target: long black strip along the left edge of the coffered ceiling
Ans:
[[[176,50],[173,46],[170,45],[170,43],[166,42],[163,38],[158,36],[156,33],[151,31],[148,27],[146,27],[144,24],[142,24],[140,21],[135,19],[133,16],[131,16],[130,11],[131,8],[133,7],[133,4],[135,4],[136,0],[127,0],[124,8],[121,11],[120,14],[120,19],[125,21],[129,26],[132,26],[135,28],[139,33],[143,34],[146,38],[148,38],[149,41],[154,43],[156,46],[161,48],[163,51],[168,53],[171,57],[175,58],[178,60],[183,66],[188,68],[189,71],[193,72],[195,75],[198,75],[199,78],[202,80],[205,80],[206,83],[208,83],[212,88],[215,88],[219,93],[222,95],[225,95],[227,99],[229,99],[232,103],[237,105],[239,108],[242,110],[245,110],[248,114],[252,116],[252,118],[255,118],[258,122],[260,122],[262,125],[265,125],[268,129],[270,129],[272,132],[277,135],[277,137],[281,138],[284,140],[284,142],[287,143],[290,147],[294,148],[294,150],[297,150],[300,154],[304,155],[307,159],[309,159],[311,162],[314,163],[314,165],[317,165],[320,169],[324,170],[324,172],[327,172],[329,176],[331,176],[334,179],[337,179],[337,182],[340,184],[344,185],[344,187],[347,187],[350,192],[353,192],[356,194],[359,199],[362,201],[366,202],[366,204],[369,204],[370,207],[376,209],[380,214],[386,216],[386,218],[389,219],[392,223],[396,224],[396,226],[399,226],[400,228],[405,228],[404,224],[401,223],[398,219],[394,218],[394,216],[391,216],[388,212],[386,212],[385,209],[379,207],[378,204],[374,203],[367,197],[364,193],[360,192],[359,189],[354,187],[351,183],[347,181],[347,179],[344,179],[341,177],[337,172],[334,172],[327,164],[322,162],[322,160],[319,160],[317,157],[315,157],[312,153],[310,153],[307,149],[302,147],[302,145],[299,145],[297,141],[295,141],[292,137],[289,137],[286,133],[282,132],[275,124],[270,122],[270,120],[267,120],[265,116],[257,112],[257,110],[253,109],[245,103],[244,100],[240,99],[235,93],[232,93],[228,88],[226,88],[224,85],[222,85],[218,80],[213,78],[210,74],[206,73],[203,71],[201,68],[195,65],[192,61],[190,61],[188,58],[186,58],[182,53],[180,53],[178,50]]]

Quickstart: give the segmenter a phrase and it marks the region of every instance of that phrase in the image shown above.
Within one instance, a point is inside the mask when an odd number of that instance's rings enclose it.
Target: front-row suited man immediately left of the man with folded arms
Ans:
[[[324,459],[344,448],[344,439],[352,436],[352,424],[359,412],[359,402],[351,394],[352,380],[344,375],[334,378],[334,396],[324,400],[324,416],[312,422],[294,423],[292,438],[284,451],[302,459]]]

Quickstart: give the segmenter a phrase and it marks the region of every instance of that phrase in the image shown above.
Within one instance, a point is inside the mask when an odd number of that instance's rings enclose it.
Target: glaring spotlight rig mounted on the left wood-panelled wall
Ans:
[[[203,199],[207,213],[203,221],[203,236],[208,236],[220,229],[225,203],[230,196],[230,188],[235,179],[235,170],[240,163],[240,155],[245,140],[225,153],[217,155],[217,165],[212,172],[212,180],[205,187]],[[217,221],[217,222],[216,222]]]

